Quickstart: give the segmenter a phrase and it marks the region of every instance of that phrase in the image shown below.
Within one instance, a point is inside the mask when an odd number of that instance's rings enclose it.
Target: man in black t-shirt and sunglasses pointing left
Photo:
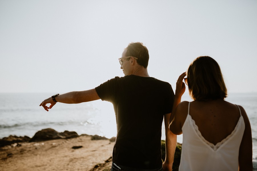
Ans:
[[[142,43],[130,43],[119,58],[124,77],[115,77],[95,89],[54,95],[40,106],[48,111],[56,102],[110,101],[117,122],[111,170],[172,170],[176,135],[169,130],[168,125],[174,92],[169,83],[148,75],[148,60],[148,49]],[[50,107],[46,106],[47,103],[51,103]],[[163,118],[166,159],[162,164]]]

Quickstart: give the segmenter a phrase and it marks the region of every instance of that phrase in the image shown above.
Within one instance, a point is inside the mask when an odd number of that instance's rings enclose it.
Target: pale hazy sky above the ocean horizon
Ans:
[[[123,76],[118,58],[138,41],[174,90],[208,55],[229,93],[257,92],[257,0],[0,0],[0,92],[94,88]]]

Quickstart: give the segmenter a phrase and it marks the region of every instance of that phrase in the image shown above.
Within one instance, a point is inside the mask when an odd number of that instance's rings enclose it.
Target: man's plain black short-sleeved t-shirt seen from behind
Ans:
[[[152,77],[115,77],[95,88],[113,103],[117,137],[113,162],[155,169],[162,166],[161,132],[164,114],[171,113],[174,92],[169,83]]]

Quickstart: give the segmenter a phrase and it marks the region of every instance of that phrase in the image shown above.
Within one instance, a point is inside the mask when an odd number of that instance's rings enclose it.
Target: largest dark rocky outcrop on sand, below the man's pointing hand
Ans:
[[[79,137],[79,135],[74,131],[64,131],[63,133],[59,133],[54,129],[47,128],[35,133],[35,135],[31,138],[29,142],[47,141],[54,139],[69,139],[75,137]]]

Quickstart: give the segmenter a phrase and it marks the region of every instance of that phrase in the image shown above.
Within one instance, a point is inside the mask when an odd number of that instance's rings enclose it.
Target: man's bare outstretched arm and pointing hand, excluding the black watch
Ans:
[[[98,100],[100,97],[98,96],[95,89],[85,90],[85,91],[71,91],[69,93],[60,94],[55,97],[55,100],[60,103],[82,103],[87,101]],[[47,103],[51,105],[47,107]],[[51,109],[56,102],[53,101],[52,97],[45,99],[39,106],[43,106],[46,111]]]

